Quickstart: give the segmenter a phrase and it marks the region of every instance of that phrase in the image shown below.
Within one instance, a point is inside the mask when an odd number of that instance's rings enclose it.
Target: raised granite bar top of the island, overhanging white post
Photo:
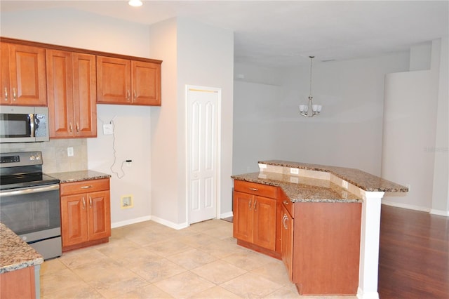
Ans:
[[[355,185],[361,188],[362,190],[368,192],[408,192],[407,187],[396,184],[395,182],[391,182],[389,180],[385,180],[376,175],[366,173],[356,168],[325,166],[319,164],[306,164],[282,160],[259,161],[259,163],[333,173],[333,175],[337,176],[338,178],[346,180],[347,182],[350,182],[352,185]]]

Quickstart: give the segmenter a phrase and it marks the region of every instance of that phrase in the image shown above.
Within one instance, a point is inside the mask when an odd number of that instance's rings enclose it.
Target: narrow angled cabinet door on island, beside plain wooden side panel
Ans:
[[[290,281],[293,279],[293,218],[285,206],[281,218],[281,256],[288,271]]]

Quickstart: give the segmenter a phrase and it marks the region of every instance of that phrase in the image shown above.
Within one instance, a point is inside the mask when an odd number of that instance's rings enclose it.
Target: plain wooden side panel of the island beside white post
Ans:
[[[361,204],[295,203],[293,283],[300,295],[355,295]]]

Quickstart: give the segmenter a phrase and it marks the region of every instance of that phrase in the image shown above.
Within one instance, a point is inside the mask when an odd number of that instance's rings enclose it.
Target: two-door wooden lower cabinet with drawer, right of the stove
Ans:
[[[109,241],[109,178],[62,183],[62,251]]]

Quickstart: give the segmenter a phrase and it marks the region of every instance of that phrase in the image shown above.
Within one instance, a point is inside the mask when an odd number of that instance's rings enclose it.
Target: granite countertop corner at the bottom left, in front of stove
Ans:
[[[43,263],[43,257],[0,222],[0,274]]]

